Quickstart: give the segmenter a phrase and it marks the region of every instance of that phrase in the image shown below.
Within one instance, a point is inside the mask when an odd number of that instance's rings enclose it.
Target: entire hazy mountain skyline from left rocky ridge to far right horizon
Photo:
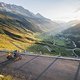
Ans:
[[[33,32],[60,32],[68,27],[79,23],[78,20],[70,21],[68,23],[53,22],[50,19],[45,18],[40,13],[34,14],[22,6],[14,4],[6,4],[0,2],[0,13],[11,16],[25,24],[26,28]],[[54,15],[54,14],[53,14]]]

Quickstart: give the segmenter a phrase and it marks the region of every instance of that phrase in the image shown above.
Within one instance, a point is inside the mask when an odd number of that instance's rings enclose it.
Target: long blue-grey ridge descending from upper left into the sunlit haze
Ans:
[[[24,16],[24,18],[27,21],[33,23],[36,26],[36,28],[39,28],[40,31],[48,31],[55,29],[55,27],[59,27],[58,23],[43,17],[40,13],[33,14],[29,10],[24,9],[23,7],[17,5],[6,4],[3,2],[0,4],[2,7],[2,9],[0,9],[1,11],[11,12],[17,15],[19,14],[21,16]]]

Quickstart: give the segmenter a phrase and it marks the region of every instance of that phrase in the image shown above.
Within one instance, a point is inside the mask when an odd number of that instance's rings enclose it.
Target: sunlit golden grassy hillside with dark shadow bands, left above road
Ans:
[[[34,33],[13,17],[0,14],[0,50],[21,50],[32,45]]]

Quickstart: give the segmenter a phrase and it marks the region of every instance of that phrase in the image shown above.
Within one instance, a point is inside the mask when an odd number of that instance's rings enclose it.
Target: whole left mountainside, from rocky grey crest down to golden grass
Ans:
[[[59,24],[33,14],[21,6],[0,2],[0,50],[20,50],[36,42],[36,32],[46,32]]]

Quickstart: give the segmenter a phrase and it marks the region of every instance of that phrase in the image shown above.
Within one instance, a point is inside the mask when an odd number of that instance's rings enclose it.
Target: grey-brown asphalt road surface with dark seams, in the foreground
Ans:
[[[80,60],[25,54],[22,60],[8,61],[0,53],[0,73],[14,80],[80,80]]]

